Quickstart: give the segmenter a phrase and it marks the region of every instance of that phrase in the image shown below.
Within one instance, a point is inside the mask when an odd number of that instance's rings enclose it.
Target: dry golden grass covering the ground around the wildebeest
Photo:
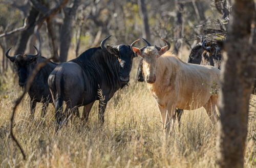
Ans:
[[[132,71],[135,75],[136,66]],[[35,120],[29,120],[29,98],[18,106],[15,135],[27,154],[27,161],[9,137],[12,102],[20,94],[12,78],[4,78],[0,100],[1,167],[215,167],[216,126],[212,127],[203,108],[185,111],[178,131],[167,140],[161,130],[161,117],[145,83],[131,79],[130,86],[109,101],[103,128],[98,126],[97,105],[88,126],[75,118],[72,127],[54,132],[54,108],[50,105],[45,124],[37,105]],[[14,88],[14,89],[13,89]],[[255,96],[251,102],[255,103]],[[80,108],[80,111],[82,109]],[[245,167],[255,167],[255,107],[248,124]]]

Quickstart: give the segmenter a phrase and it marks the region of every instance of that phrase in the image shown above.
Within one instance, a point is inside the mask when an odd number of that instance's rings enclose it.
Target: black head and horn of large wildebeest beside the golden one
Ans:
[[[133,58],[135,54],[131,50],[129,45],[115,45],[115,46],[104,46],[106,40],[108,40],[111,36],[106,37],[102,40],[100,46],[102,49],[107,50],[111,54],[115,55],[118,58],[119,66],[119,79],[123,83],[127,83],[130,80],[130,72],[133,65]]]

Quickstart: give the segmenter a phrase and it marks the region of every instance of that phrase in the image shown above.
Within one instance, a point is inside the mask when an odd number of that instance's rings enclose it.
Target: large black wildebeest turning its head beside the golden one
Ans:
[[[90,48],[78,58],[57,66],[49,76],[48,83],[55,105],[58,128],[63,123],[62,102],[66,101],[66,119],[76,106],[85,106],[82,118],[88,120],[92,105],[99,100],[99,121],[104,122],[104,111],[114,93],[130,80],[134,52],[128,45]],[[102,96],[98,94],[99,90]],[[103,99],[102,99],[103,97]]]

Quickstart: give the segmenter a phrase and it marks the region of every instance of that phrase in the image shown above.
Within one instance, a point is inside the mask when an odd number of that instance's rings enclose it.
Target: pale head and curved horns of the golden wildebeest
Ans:
[[[156,81],[156,66],[157,66],[157,59],[164,54],[168,49],[170,49],[170,43],[161,38],[166,46],[159,48],[157,46],[147,46],[144,47],[143,50],[131,46],[133,51],[139,55],[143,59],[143,70],[145,71],[146,75],[146,82],[147,83],[154,83]],[[136,40],[135,42],[139,41]],[[135,42],[133,44],[135,44]]]

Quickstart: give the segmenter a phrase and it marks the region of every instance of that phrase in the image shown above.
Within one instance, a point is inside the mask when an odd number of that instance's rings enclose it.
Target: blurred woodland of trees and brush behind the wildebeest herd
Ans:
[[[201,36],[225,38],[230,1],[211,0],[0,0],[0,73],[12,69],[4,53],[34,53],[65,62],[84,50],[99,46],[106,36],[109,44],[131,44],[144,37],[172,50],[191,49]],[[141,46],[144,43],[141,42]]]

